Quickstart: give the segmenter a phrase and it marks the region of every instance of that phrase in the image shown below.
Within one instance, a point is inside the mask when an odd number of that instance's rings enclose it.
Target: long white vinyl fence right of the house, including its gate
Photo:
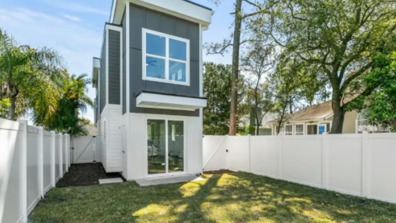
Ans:
[[[396,133],[205,135],[203,145],[204,170],[250,172],[396,203]]]

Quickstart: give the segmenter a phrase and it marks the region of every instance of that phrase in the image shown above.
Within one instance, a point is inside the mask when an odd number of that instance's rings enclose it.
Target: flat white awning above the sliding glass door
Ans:
[[[158,105],[152,105],[152,103],[156,103]],[[182,97],[175,95],[143,92],[136,98],[136,107],[195,111],[196,109],[206,107],[206,105],[207,100],[204,98]]]

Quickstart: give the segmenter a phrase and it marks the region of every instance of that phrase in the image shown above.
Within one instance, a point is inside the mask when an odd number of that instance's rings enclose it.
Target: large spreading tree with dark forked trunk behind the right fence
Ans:
[[[333,125],[341,133],[344,109],[354,97],[369,95],[356,86],[373,66],[377,53],[396,49],[396,2],[384,0],[268,0],[270,13],[251,19],[258,39],[270,38],[331,86]]]

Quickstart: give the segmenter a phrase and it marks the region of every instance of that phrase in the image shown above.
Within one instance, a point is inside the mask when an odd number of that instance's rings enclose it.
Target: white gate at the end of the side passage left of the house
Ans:
[[[72,160],[74,164],[100,162],[97,139],[95,136],[73,137]]]

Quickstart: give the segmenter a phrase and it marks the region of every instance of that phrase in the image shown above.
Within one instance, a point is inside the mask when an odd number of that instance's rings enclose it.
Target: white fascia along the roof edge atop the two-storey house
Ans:
[[[208,8],[203,8],[202,6],[197,6],[184,0],[114,0],[110,15],[110,23],[121,23],[122,12],[124,11],[125,5],[124,2],[130,2],[194,23],[201,23],[205,27],[208,27],[212,23],[212,15],[214,13],[214,11]]]

